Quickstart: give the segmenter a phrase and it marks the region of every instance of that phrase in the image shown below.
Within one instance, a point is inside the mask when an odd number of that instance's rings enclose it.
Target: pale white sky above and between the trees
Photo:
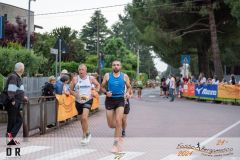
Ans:
[[[28,9],[28,0],[0,0],[0,2]],[[37,29],[36,32],[51,32],[52,29],[61,26],[68,26],[81,31],[82,26],[90,21],[94,10],[47,16],[38,16],[38,14],[122,5],[131,2],[132,0],[32,0],[31,10],[36,15],[34,17],[34,24],[43,27],[43,29]],[[118,15],[124,13],[124,7],[118,6],[101,9],[102,14],[108,20],[108,27],[111,27],[118,21]],[[154,62],[158,71],[162,72],[166,69],[166,64],[161,62],[160,59],[156,58]]]

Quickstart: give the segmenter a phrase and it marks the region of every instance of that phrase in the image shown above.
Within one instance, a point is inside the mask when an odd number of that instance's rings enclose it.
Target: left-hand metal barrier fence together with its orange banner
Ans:
[[[91,113],[96,112],[98,107],[99,104],[97,107],[92,106]],[[23,136],[45,134],[68,122],[78,120],[77,115],[73,96],[30,98],[29,102],[23,105]]]

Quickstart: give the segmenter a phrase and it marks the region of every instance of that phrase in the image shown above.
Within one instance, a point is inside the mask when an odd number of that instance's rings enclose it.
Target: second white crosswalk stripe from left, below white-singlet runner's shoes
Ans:
[[[76,157],[80,157],[82,155],[88,154],[88,153],[92,153],[96,150],[94,149],[71,149],[71,150],[67,150],[64,152],[59,152],[56,154],[52,154],[49,156],[45,156],[42,157],[40,159],[37,160],[65,160],[65,159],[72,159],[72,158],[76,158]]]

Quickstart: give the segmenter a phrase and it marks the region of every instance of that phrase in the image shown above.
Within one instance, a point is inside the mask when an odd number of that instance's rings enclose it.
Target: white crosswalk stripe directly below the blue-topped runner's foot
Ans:
[[[133,158],[136,158],[136,157],[139,157],[141,155],[143,155],[144,152],[124,152],[124,154],[120,154],[122,160],[131,160]],[[110,156],[106,156],[106,157],[103,157],[103,158],[100,158],[98,160],[113,160],[113,159],[119,159],[117,158],[117,155],[115,154],[112,154]]]

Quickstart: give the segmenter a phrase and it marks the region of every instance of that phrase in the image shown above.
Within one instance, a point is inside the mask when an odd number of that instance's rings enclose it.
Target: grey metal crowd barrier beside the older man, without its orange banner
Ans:
[[[79,119],[74,116],[66,121],[58,122],[58,102],[56,97],[30,98],[23,104],[23,137],[45,134]]]

